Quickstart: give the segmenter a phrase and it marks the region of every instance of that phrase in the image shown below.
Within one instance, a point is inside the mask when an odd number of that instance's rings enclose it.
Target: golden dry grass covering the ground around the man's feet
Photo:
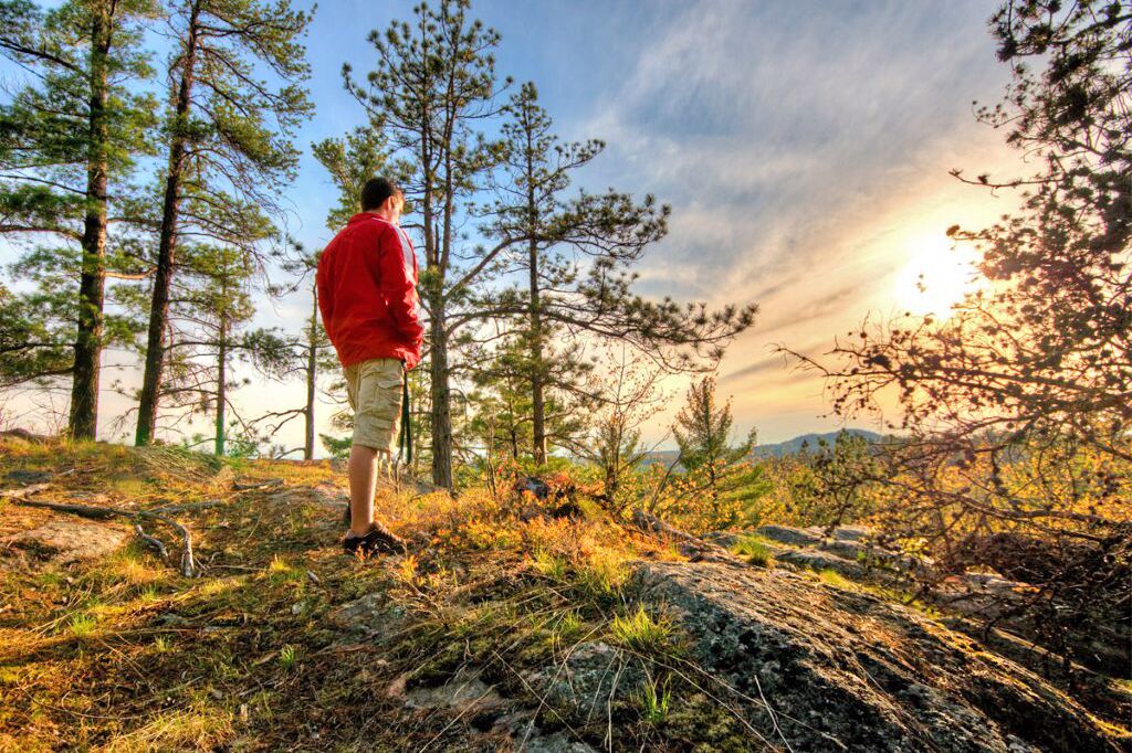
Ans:
[[[471,750],[468,720],[422,719],[384,689],[398,676],[443,682],[475,658],[492,684],[529,695],[523,672],[563,661],[626,613],[633,560],[678,557],[598,513],[522,522],[479,490],[458,500],[385,490],[378,514],[419,551],[354,562],[337,547],[344,474],[325,461],[0,442],[0,478],[14,469],[50,473],[45,500],[190,505],[175,517],[203,571],[186,579],[136,544],[69,565],[0,556],[0,604],[10,605],[0,611],[0,750],[53,750],[61,738],[114,751]],[[272,479],[281,484],[233,488]],[[206,501],[216,503],[191,507]],[[52,514],[0,505],[0,535]],[[171,531],[147,530],[175,560]],[[375,591],[404,617],[386,643],[359,644],[328,615]]]

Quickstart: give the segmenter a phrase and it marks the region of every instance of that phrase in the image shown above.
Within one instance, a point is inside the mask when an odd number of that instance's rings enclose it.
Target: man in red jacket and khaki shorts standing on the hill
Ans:
[[[323,326],[342,362],[354,412],[350,448],[350,554],[404,552],[405,543],[374,519],[378,460],[393,466],[405,372],[420,361],[424,328],[417,313],[417,258],[398,222],[404,196],[375,178],[361,214],[329,242],[316,284]]]

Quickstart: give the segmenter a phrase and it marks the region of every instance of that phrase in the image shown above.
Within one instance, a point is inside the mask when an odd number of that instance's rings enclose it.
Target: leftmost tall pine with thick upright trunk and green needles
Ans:
[[[49,12],[0,2],[0,52],[34,77],[0,111],[0,233],[36,239],[18,268],[50,280],[31,298],[8,296],[17,315],[0,329],[17,331],[3,338],[36,337],[6,354],[3,372],[9,381],[70,373],[68,430],[80,439],[97,432],[102,349],[115,335],[104,311],[108,257],[122,249],[109,246],[109,227],[136,223],[128,211],[112,220],[110,208],[125,206],[134,158],[149,148],[152,102],[130,85],[151,75],[138,43],[155,11],[149,0],[74,0]],[[59,287],[71,275],[74,297]]]

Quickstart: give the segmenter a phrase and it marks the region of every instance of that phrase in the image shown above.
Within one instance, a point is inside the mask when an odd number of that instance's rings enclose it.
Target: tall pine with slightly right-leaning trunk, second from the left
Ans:
[[[310,112],[300,42],[310,15],[289,0],[172,0],[169,159],[149,305],[137,444],[153,440],[165,367],[170,292],[181,235],[249,257],[276,237],[283,183],[294,175],[291,137]],[[266,70],[277,86],[260,80]]]

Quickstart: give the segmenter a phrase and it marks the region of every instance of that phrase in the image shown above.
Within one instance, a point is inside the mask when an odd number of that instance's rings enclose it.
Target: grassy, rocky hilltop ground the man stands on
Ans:
[[[522,501],[387,485],[378,514],[412,553],[362,561],[338,546],[345,478],[328,461],[7,439],[0,490],[0,750],[1130,741],[1114,713],[925,611],[723,551],[693,564],[679,542],[584,501],[572,519],[523,520]],[[40,503],[161,518],[91,520]],[[191,534],[191,575],[171,521]],[[967,687],[967,676],[981,680]],[[777,709],[764,695],[775,687]],[[1126,682],[1109,690],[1132,698]]]

